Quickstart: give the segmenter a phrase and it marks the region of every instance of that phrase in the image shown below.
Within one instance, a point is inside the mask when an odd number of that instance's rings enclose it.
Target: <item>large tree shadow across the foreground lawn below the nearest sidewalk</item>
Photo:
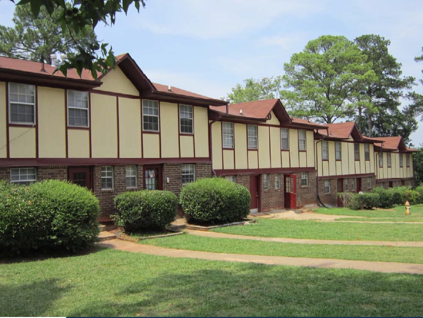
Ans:
[[[423,276],[262,264],[222,266],[222,262],[199,267],[177,273],[153,271],[144,279],[126,277],[113,297],[68,315],[415,316],[423,312],[419,301]]]

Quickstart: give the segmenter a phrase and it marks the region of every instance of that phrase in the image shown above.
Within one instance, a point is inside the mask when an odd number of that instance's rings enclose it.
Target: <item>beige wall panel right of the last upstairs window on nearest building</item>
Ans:
[[[208,157],[208,110],[194,107],[195,156]],[[162,149],[163,151],[163,149]]]

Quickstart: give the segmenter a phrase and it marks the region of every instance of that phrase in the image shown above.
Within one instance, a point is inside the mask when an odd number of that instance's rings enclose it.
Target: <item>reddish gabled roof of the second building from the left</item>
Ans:
[[[301,118],[289,117],[282,102],[278,98],[249,101],[228,105],[228,114],[226,106],[210,107],[211,111],[218,112],[222,117],[239,118],[244,120],[266,121],[270,119],[271,112],[275,114],[282,125],[298,125],[307,127],[325,128],[325,125],[310,122]],[[242,115],[240,114],[242,110]]]

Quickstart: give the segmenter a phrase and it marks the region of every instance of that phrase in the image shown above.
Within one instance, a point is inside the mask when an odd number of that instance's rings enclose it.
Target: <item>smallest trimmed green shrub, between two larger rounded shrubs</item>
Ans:
[[[178,198],[170,191],[128,191],[115,197],[115,207],[111,217],[125,232],[164,229],[175,220]]]

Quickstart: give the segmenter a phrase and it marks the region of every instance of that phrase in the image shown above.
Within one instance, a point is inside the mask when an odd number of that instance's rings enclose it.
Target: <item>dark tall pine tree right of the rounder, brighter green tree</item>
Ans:
[[[400,116],[398,112],[398,107],[401,104],[399,99],[405,96],[404,89],[412,88],[415,78],[401,76],[402,64],[389,54],[390,41],[385,40],[384,37],[374,34],[362,35],[357,37],[354,42],[367,57],[366,62],[371,63],[372,70],[376,75],[373,81],[368,81],[362,87],[359,95],[354,95],[350,99],[356,105],[360,130],[372,137],[373,122],[387,119],[389,113],[392,113],[395,120],[409,119],[406,114]],[[362,116],[365,116],[366,120],[362,120]],[[399,124],[404,126],[405,123]],[[382,121],[378,125],[381,127],[385,123]],[[409,135],[410,133],[407,136]]]

